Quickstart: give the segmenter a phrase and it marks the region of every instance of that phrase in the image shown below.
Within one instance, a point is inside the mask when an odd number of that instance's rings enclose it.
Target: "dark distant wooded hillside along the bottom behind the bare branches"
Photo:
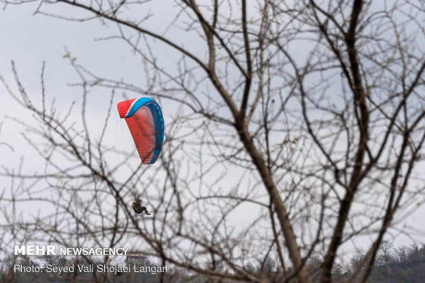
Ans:
[[[332,270],[332,279],[334,282],[344,282],[352,278],[353,282],[361,278],[362,273],[365,271],[365,252],[361,249],[356,250],[347,262],[335,265]],[[313,274],[314,281],[319,280],[319,269],[321,267],[323,258],[321,256],[313,256],[312,260],[307,262],[308,270]],[[14,264],[22,264],[24,267],[40,267],[44,272],[14,272]],[[75,264],[103,264],[100,261],[90,260],[88,262],[84,258],[75,258],[73,260],[61,256],[46,256],[34,261],[28,257],[14,257],[7,256],[1,260],[0,265],[0,282],[216,282],[213,278],[205,278],[204,276],[197,276],[189,273],[184,269],[170,269],[168,273],[109,273],[100,274],[97,271],[80,273],[75,269],[75,272],[47,273],[45,266],[51,264],[56,267],[66,267]],[[126,264],[130,264],[127,262]],[[217,264],[217,263],[216,263]],[[145,260],[143,263],[145,267],[157,267],[158,264]],[[216,265],[217,273],[226,273],[226,264]],[[360,268],[359,268],[360,267]],[[263,260],[257,260],[246,264],[243,269],[245,271],[260,275],[265,282],[272,282],[276,280],[276,275],[282,273],[278,257],[268,256]],[[291,270],[288,270],[290,272]],[[353,276],[356,273],[356,276]],[[272,280],[271,278],[274,278]],[[422,283],[425,278],[425,249],[424,246],[417,244],[412,245],[394,245],[389,241],[384,241],[380,246],[378,255],[374,262],[374,269],[369,277],[368,282],[385,282],[385,283]],[[217,282],[220,280],[217,279]],[[230,281],[226,281],[230,282]]]

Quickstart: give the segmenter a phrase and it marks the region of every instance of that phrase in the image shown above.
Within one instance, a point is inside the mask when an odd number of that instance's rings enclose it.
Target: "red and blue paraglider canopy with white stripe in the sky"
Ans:
[[[164,140],[164,119],[160,106],[149,97],[121,101],[117,106],[119,116],[125,119],[132,133],[142,163],[155,163]]]

